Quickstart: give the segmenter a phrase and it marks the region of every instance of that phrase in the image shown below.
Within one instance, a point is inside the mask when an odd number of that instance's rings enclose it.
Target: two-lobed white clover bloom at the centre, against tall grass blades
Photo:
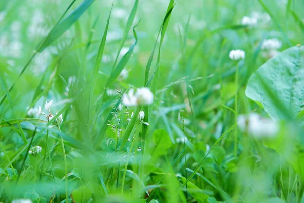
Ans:
[[[134,89],[130,89],[128,94],[124,94],[122,102],[125,106],[136,107],[150,105],[153,103],[153,93],[147,87],[138,88],[134,94]]]

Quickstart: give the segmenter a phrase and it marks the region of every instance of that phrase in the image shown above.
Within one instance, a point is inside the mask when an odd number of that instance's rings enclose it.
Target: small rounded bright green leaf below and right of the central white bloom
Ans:
[[[154,159],[168,153],[172,146],[169,134],[164,129],[157,129],[153,132],[152,142],[154,144],[151,157]]]

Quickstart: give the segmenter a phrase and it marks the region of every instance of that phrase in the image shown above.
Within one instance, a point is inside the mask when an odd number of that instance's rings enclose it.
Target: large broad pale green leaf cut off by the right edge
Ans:
[[[274,120],[295,118],[304,107],[304,47],[295,46],[263,64],[249,78],[246,96]]]

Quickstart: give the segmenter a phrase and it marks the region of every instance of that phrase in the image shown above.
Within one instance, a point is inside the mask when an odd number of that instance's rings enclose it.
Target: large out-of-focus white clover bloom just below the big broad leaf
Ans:
[[[261,118],[257,113],[238,116],[238,126],[257,138],[273,137],[279,131],[278,123],[272,119]]]

